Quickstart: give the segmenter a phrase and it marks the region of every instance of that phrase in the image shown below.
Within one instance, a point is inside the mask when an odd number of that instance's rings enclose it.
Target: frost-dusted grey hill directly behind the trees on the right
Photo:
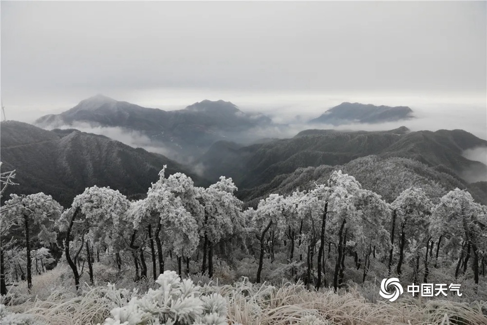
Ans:
[[[331,173],[338,169],[354,176],[365,189],[375,191],[387,202],[392,202],[402,191],[417,186],[436,200],[455,188],[467,189],[477,202],[487,204],[487,182],[468,184],[448,170],[432,168],[408,158],[377,155],[356,158],[344,165],[298,168],[276,176],[270,183],[241,190],[238,195],[248,206],[255,207],[259,200],[271,193],[289,195],[296,189],[311,190],[315,184],[325,184]]]

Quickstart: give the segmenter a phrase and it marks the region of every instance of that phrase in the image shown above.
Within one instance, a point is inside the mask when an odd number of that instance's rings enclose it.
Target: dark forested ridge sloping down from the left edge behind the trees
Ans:
[[[75,195],[93,185],[110,186],[125,195],[146,193],[164,165],[184,172],[196,184],[207,182],[169,158],[132,148],[103,135],[78,130],[46,131],[17,122],[1,122],[2,169],[16,170],[17,186],[9,193],[43,191],[69,206]]]

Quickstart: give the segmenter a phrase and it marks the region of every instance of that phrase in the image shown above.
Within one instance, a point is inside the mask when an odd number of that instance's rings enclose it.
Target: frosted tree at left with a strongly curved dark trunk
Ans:
[[[86,248],[90,281],[93,282],[91,247],[94,243],[104,243],[108,247],[114,247],[120,241],[126,227],[124,218],[129,204],[127,197],[119,191],[93,186],[77,195],[71,209],[62,214],[58,227],[66,232],[64,252],[75,277],[76,289],[79,288],[79,273],[75,260],[83,246]],[[70,250],[72,236],[79,239],[74,258]]]

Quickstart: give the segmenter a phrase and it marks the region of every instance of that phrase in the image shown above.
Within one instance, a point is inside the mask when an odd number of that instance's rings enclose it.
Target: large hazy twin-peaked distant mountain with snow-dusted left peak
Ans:
[[[42,128],[58,128],[76,127],[82,122],[137,131],[147,136],[151,145],[183,155],[203,153],[215,141],[238,139],[252,128],[272,124],[265,115],[244,113],[223,100],[203,100],[183,110],[164,111],[103,95],[82,100],[63,113],[42,116],[35,124]]]

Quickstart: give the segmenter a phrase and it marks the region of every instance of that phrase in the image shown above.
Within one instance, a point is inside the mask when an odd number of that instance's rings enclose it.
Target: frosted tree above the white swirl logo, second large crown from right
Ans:
[[[433,204],[421,188],[411,187],[399,194],[392,203],[392,208],[395,210],[393,229],[398,229],[400,235],[397,274],[401,275],[408,240],[428,241],[427,229]],[[416,258],[419,261],[419,255]]]

